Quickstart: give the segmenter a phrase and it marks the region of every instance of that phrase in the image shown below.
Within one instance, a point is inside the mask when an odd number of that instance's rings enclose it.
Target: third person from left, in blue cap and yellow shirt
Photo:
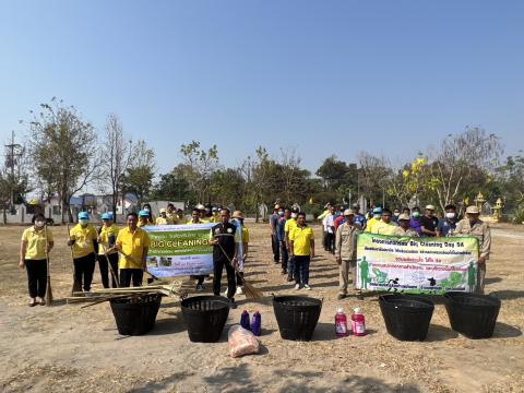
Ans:
[[[100,270],[102,285],[109,288],[108,262],[111,264],[115,276],[112,287],[118,283],[118,252],[114,249],[118,236],[118,226],[112,221],[112,213],[102,215],[103,225],[98,231],[98,269]],[[111,274],[112,275],[112,274]]]

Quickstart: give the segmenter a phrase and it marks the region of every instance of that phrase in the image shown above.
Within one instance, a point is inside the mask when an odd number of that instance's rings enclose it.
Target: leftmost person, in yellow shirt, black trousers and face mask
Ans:
[[[47,261],[46,257],[55,245],[52,233],[46,227],[46,217],[43,214],[33,216],[33,226],[22,234],[20,245],[19,266],[27,271],[27,285],[29,288],[29,307],[36,306],[39,298],[41,306],[46,305],[47,289]]]

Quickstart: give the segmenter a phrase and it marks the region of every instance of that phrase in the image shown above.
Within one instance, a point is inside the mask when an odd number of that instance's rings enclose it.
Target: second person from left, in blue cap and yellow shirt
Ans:
[[[69,233],[68,246],[72,246],[73,251],[74,281],[83,286],[85,293],[91,290],[95,272],[97,238],[95,227],[90,224],[90,215],[87,212],[80,212],[79,224]]]

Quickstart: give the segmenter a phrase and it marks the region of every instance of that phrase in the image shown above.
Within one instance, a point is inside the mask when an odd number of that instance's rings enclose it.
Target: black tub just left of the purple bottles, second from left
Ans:
[[[194,296],[181,301],[182,315],[193,343],[216,343],[229,315],[229,301],[222,296]]]

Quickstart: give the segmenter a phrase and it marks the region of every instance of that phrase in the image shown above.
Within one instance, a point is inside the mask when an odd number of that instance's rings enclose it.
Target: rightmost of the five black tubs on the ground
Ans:
[[[469,338],[489,338],[500,310],[500,299],[488,295],[445,293],[451,327]]]

